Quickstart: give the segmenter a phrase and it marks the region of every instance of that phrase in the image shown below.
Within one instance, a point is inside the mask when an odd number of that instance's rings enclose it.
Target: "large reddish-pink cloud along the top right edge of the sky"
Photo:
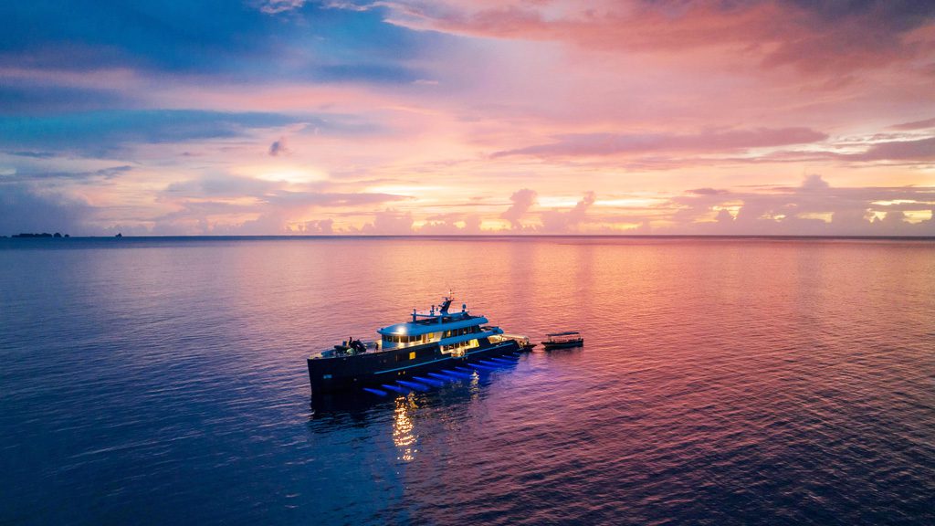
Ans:
[[[905,61],[907,42],[928,17],[894,3],[834,6],[783,1],[725,3],[589,2],[379,3],[388,21],[454,35],[568,42],[590,49],[645,52],[731,46],[766,66],[849,71]]]

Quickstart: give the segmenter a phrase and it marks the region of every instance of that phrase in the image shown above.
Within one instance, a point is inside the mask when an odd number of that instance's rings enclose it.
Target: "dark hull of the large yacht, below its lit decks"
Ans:
[[[514,341],[489,343],[470,349],[463,357],[453,358],[441,352],[438,343],[430,343],[351,357],[309,358],[309,381],[312,394],[322,394],[367,386],[392,384],[412,376],[469,365],[483,358],[519,352]],[[414,358],[412,354],[414,353]]]

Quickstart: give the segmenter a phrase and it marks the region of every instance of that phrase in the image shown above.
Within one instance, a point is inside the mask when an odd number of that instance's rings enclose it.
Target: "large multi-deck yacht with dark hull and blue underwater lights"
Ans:
[[[504,334],[502,329],[488,326],[487,318],[470,314],[466,304],[460,312],[451,312],[452,302],[449,295],[428,312],[413,309],[410,321],[377,330],[379,340],[349,338],[310,356],[312,394],[388,386],[443,369],[463,370],[478,360],[516,354],[534,345],[525,336]]]

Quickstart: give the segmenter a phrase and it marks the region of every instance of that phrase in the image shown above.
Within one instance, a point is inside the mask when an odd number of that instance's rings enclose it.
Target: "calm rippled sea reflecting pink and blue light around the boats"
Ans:
[[[448,288],[583,349],[313,408]],[[932,524],[935,242],[0,240],[0,523]]]

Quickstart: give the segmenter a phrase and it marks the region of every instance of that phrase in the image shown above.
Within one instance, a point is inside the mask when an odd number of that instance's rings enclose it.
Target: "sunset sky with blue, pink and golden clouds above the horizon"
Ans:
[[[935,3],[0,4],[0,235],[935,235]]]

